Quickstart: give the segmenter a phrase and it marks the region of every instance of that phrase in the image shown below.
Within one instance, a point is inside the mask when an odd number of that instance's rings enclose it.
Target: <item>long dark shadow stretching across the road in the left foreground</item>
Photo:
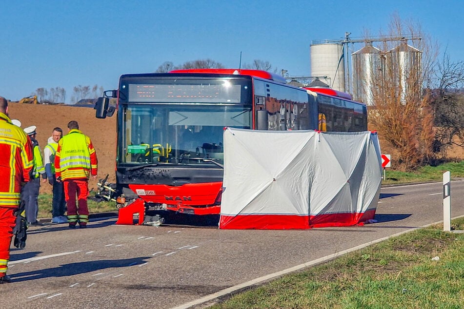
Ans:
[[[134,265],[140,265],[145,263],[146,259],[149,259],[149,257],[144,256],[122,260],[99,260],[69,263],[61,265],[59,267],[48,268],[44,270],[19,272],[11,274],[10,277],[14,278],[14,282],[35,280],[48,277],[66,277],[95,270],[104,270],[107,268],[130,267]]]

